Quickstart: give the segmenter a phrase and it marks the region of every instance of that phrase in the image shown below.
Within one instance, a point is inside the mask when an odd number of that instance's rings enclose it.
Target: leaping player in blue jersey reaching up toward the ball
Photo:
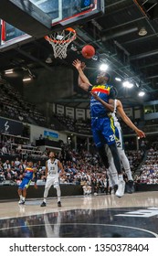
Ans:
[[[105,152],[105,144],[108,144],[111,155],[113,156],[114,165],[118,172],[118,179],[115,183],[116,196],[122,197],[124,195],[125,182],[123,180],[121,172],[121,161],[118,154],[116,142],[115,142],[115,127],[112,120],[109,117],[109,111],[97,101],[92,93],[97,93],[100,99],[109,103],[109,100],[113,101],[115,97],[115,91],[109,84],[110,75],[105,72],[100,72],[97,77],[97,85],[91,85],[90,80],[85,76],[82,70],[82,63],[79,59],[73,61],[72,65],[79,71],[79,87],[84,91],[90,91],[90,116],[91,116],[91,130],[93,133],[94,143],[99,151],[100,158],[106,168],[109,168],[108,157]]]

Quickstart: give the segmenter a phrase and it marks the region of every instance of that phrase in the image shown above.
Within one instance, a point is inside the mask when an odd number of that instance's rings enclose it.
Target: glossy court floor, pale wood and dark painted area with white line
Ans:
[[[1,238],[155,238],[158,192],[0,201]]]

